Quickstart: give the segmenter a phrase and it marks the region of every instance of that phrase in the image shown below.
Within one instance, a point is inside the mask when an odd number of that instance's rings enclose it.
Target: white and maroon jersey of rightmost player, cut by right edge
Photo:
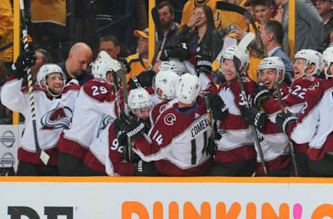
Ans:
[[[333,81],[323,80],[309,87],[298,122],[291,123],[288,134],[296,143],[309,142],[307,156],[323,159],[333,151]]]

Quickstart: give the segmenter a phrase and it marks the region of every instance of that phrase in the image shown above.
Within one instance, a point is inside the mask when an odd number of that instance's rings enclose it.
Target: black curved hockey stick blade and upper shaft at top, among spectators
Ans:
[[[253,26],[253,29],[255,30],[255,35],[257,36],[257,40],[259,40],[260,46],[262,46],[262,50],[264,51],[264,56],[268,57],[266,47],[264,46],[264,43],[262,42],[262,37],[260,37],[259,30],[257,26],[255,26],[255,21],[253,20],[253,17],[251,16],[250,12],[246,10],[245,8],[242,8],[241,6],[237,6],[233,3],[228,3],[224,1],[216,1],[216,9],[219,10],[228,10],[232,12],[237,12],[243,16],[245,16]]]

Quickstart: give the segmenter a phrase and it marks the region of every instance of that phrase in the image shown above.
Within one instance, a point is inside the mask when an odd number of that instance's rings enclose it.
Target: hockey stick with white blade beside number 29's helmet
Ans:
[[[107,52],[101,51],[101,53],[99,53],[99,55],[101,55],[101,58],[103,58],[103,60],[105,60],[105,62],[107,62],[110,65],[113,65],[114,60],[110,57],[110,55]],[[123,110],[124,110],[126,116],[130,116],[130,112],[128,111],[128,94],[127,94],[127,87],[126,87],[126,76],[123,73],[123,71],[121,71],[121,70],[118,70],[115,73],[121,79],[121,82],[123,84]],[[132,156],[133,149],[132,149],[132,141],[130,140],[130,137],[127,137],[127,145],[128,145],[128,160],[130,162],[132,162],[133,161],[133,156]]]

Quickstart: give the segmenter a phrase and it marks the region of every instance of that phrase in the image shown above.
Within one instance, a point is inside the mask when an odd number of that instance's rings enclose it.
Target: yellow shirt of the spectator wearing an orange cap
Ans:
[[[130,78],[139,75],[142,71],[146,71],[149,65],[148,60],[144,61],[139,53],[128,56],[126,60],[130,66],[130,72],[126,74],[126,83]]]

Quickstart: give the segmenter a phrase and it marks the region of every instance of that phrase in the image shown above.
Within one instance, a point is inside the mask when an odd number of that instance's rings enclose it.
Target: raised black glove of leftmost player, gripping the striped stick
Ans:
[[[29,49],[28,53],[23,53],[17,57],[16,62],[12,64],[10,74],[15,76],[17,79],[23,78],[25,74],[24,72],[33,67],[35,62],[35,51],[33,49]]]

